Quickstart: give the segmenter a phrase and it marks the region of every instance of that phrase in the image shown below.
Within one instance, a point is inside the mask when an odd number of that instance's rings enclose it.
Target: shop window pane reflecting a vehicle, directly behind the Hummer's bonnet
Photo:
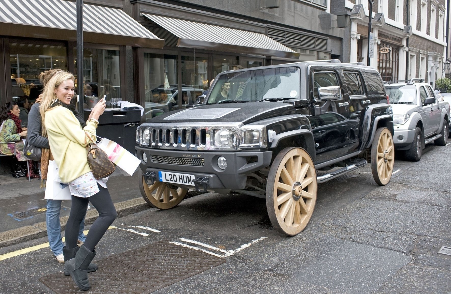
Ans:
[[[179,109],[176,102],[179,91],[177,56],[144,53],[143,71],[146,120]]]

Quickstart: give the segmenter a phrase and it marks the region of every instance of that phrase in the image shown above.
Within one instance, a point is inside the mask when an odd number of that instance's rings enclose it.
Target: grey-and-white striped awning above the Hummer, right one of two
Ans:
[[[261,33],[237,30],[154,14],[141,14],[160,27],[150,28],[165,45],[234,53],[299,58],[299,53]],[[165,32],[166,31],[166,32]],[[163,37],[164,36],[164,37]],[[171,43],[171,40],[174,40]]]

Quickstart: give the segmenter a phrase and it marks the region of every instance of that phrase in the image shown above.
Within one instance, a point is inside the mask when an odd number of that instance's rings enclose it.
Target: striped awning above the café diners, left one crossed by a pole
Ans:
[[[0,35],[77,40],[77,7],[64,0],[0,0]],[[162,48],[164,40],[120,9],[83,4],[83,41]]]

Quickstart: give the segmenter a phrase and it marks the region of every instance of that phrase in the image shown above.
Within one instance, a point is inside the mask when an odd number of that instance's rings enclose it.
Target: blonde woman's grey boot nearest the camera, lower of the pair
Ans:
[[[69,271],[72,280],[77,284],[78,288],[83,291],[89,290],[89,280],[87,279],[87,267],[92,259],[96,256],[96,251],[90,251],[84,245],[80,247],[75,258],[65,262],[66,270]]]

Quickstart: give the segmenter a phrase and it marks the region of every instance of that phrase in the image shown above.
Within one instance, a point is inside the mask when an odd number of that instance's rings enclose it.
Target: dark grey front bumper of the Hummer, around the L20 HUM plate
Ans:
[[[146,154],[147,163],[143,161]],[[135,147],[135,155],[141,160],[139,167],[145,177],[151,177],[147,183],[158,181],[158,172],[175,172],[192,174],[195,185],[172,184],[199,192],[220,190],[242,190],[246,186],[247,174],[255,172],[271,164],[272,151],[175,151]],[[221,170],[217,165],[220,156],[227,160],[227,167]],[[162,163],[161,158],[171,163]],[[203,159],[203,165],[187,165],[194,160],[198,164]],[[156,162],[159,160],[160,162]],[[154,172],[154,173],[152,173]],[[152,177],[152,176],[154,177]],[[146,180],[147,180],[146,178]]]

